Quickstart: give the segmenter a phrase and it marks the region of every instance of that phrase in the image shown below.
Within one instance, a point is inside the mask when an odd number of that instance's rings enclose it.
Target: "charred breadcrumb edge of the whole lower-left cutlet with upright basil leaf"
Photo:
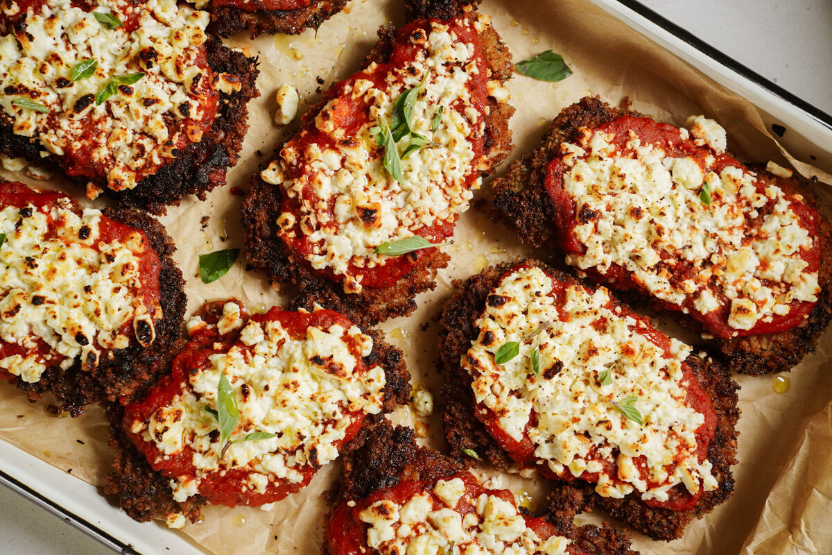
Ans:
[[[235,299],[210,301],[202,306],[196,315],[215,315],[219,318],[225,302],[242,302]],[[373,351],[364,357],[364,364],[381,366],[384,369],[386,385],[384,387],[384,406],[380,414],[369,415],[364,419],[364,428],[384,420],[384,414],[394,410],[399,405],[407,404],[410,399],[410,374],[404,363],[401,350],[384,342],[378,331],[362,325],[337,297],[326,295],[305,295],[292,300],[284,310],[314,310],[319,305],[325,309],[335,310],[352,320],[361,330],[373,339]],[[177,344],[176,351],[183,348],[185,340]],[[206,504],[205,498],[194,496],[184,503],[173,499],[170,478],[165,478],[147,463],[143,453],[127,437],[124,429],[124,409],[121,404],[112,403],[106,407],[106,419],[110,424],[109,445],[116,452],[112,472],[107,475],[105,493],[118,498],[121,508],[131,518],[139,522],[147,522],[154,518],[164,519],[170,513],[182,513],[192,523],[196,523],[201,516],[201,506]],[[361,432],[359,432],[361,434]],[[355,445],[355,439],[341,448],[342,456],[349,453]]]

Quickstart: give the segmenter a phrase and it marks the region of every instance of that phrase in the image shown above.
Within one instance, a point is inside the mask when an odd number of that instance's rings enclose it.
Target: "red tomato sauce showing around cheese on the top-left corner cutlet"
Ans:
[[[12,25],[14,22],[26,17],[27,10],[31,9],[33,13],[40,13],[42,6],[45,3],[47,3],[46,0],[17,0],[17,6],[20,7],[20,11],[15,15],[9,16],[5,12],[0,11],[0,27],[5,26],[9,32],[12,32]],[[83,2],[82,0],[74,0],[72,5],[87,12],[92,11],[92,9],[97,6],[97,4],[89,4],[87,2]],[[126,32],[135,31],[136,28],[139,27],[141,9],[138,7],[131,7],[130,4],[125,4],[122,6],[122,9],[124,12],[118,12],[116,15],[121,19],[123,29]],[[211,71],[206,60],[205,44],[196,48],[196,56],[193,58],[191,63],[193,63],[196,67],[199,67],[205,76],[195,87],[191,87],[191,100],[196,103],[196,107],[191,107],[191,113],[199,115],[199,117],[173,117],[166,120],[168,122],[169,136],[176,137],[175,141],[170,141],[164,145],[166,151],[171,148],[183,150],[191,144],[192,141],[188,137],[189,133],[186,132],[186,130],[190,131],[191,136],[203,136],[205,133],[210,131],[211,127],[214,125],[217,108],[219,107],[220,93],[217,92],[211,85],[213,72]],[[143,70],[141,67],[136,65],[132,71],[142,72]],[[198,96],[195,97],[193,95]],[[22,95],[22,97],[29,98],[29,96],[25,94]],[[118,96],[114,95],[111,97],[111,100],[107,102],[119,102],[117,98]],[[33,98],[33,100],[37,102],[38,99],[36,97]],[[102,131],[102,129],[96,125],[95,121],[92,119],[92,113],[93,111],[89,111],[87,112],[87,115],[82,118],[82,121],[84,121],[82,132],[79,136],[73,136],[72,141],[67,141],[67,145],[63,148],[64,153],[61,156],[52,154],[52,158],[59,166],[62,167],[64,171],[67,172],[67,175],[69,176],[85,176],[91,179],[106,181],[107,173],[113,165],[114,158],[110,155],[106,156],[104,160],[101,160],[100,158],[97,160],[93,156],[93,151],[101,148],[98,141],[100,140],[102,133],[106,134],[109,131]],[[60,127],[61,117],[62,111],[53,110],[47,116],[43,125],[51,129],[57,129]],[[96,156],[100,155],[101,152],[99,151]],[[159,158],[161,161],[156,163],[151,157],[145,157],[144,161],[146,163],[141,166],[141,168],[136,169],[136,181],[141,181],[141,179],[146,176],[154,175],[162,166],[165,166],[167,163],[174,160],[174,158],[168,158],[161,155],[161,153]],[[114,187],[116,190],[121,188],[124,187]]]

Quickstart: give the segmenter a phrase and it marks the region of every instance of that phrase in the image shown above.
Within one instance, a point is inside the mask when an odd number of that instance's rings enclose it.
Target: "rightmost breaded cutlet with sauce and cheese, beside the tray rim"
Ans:
[[[830,225],[808,188],[752,170],[716,121],[686,127],[586,98],[494,186],[522,240],[635,290],[714,339],[731,369],[790,369],[830,319]]]

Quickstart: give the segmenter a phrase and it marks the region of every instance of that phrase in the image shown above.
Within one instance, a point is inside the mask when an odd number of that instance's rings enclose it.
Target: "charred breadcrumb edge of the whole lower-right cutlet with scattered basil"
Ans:
[[[473,414],[475,403],[471,392],[471,377],[460,366],[460,360],[468,352],[471,341],[477,337],[474,322],[485,309],[486,297],[506,271],[521,263],[546,270],[568,283],[592,288],[537,260],[518,260],[493,266],[458,284],[457,293],[445,305],[440,323],[439,369],[444,376],[444,384],[439,404],[443,410],[445,438],[451,456],[471,467],[481,466],[482,463],[464,456],[463,448],[473,449],[480,458],[500,470],[513,463],[508,453],[499,448],[485,426]],[[626,305],[619,304],[626,308]],[[592,484],[550,480],[555,484],[549,499],[553,513],[557,513],[559,518],[568,519],[576,513],[597,507],[651,538],[671,540],[681,538],[691,520],[711,511],[730,497],[734,488],[730,466],[736,463],[736,421],[740,414],[736,391],[739,386],[730,378],[727,369],[713,359],[703,360],[696,354],[691,354],[686,362],[696,374],[702,389],[711,397],[717,415],[716,434],[708,448],[708,459],[713,465],[719,487],[706,492],[695,508],[671,511],[651,508],[633,493],[623,499],[603,498],[594,492]]]

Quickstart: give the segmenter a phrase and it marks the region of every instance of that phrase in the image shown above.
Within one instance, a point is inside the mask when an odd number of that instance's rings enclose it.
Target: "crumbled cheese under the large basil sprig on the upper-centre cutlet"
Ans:
[[[473,25],[467,19],[455,24]],[[488,27],[486,19],[477,24]],[[483,136],[485,111],[475,106],[470,89],[471,80],[488,68],[478,61],[474,45],[458,40],[450,27],[440,22],[427,25],[409,37],[416,52],[413,62],[392,67],[379,86],[364,78],[379,71],[372,63],[364,75],[359,73],[343,87],[338,98],[327,102],[314,129],[301,131],[260,174],[300,204],[300,211],[278,217],[280,234],[287,240],[305,237],[311,246],[305,257],[312,267],[343,275],[348,292],[362,290],[361,276],[351,275],[350,265],[383,265],[389,257],[374,252],[382,243],[456,221],[468,210],[471,191],[480,185],[480,178],[473,176],[490,167],[473,147]],[[384,148],[370,130],[380,120],[390,121],[399,94],[423,81],[414,102],[413,131],[425,137],[428,146],[404,157],[403,178],[396,181],[385,170]],[[368,121],[348,131],[339,113],[356,105],[365,107]],[[404,138],[399,151],[404,152],[409,141],[409,136]]]

